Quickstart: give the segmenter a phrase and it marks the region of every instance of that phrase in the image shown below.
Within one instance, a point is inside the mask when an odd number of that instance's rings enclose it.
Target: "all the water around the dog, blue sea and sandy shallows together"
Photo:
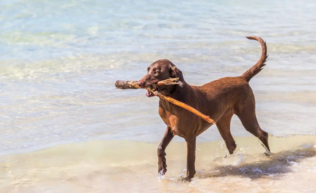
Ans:
[[[0,192],[315,192],[316,2],[0,1]],[[186,146],[167,147],[158,98],[115,89],[158,59],[186,82],[250,81],[271,155],[236,116],[233,155],[216,126],[197,138],[197,174]]]

